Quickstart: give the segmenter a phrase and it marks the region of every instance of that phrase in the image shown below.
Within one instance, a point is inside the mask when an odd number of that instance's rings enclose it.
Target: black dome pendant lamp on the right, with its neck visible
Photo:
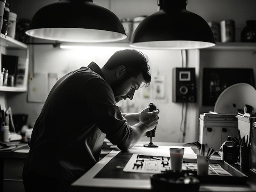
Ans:
[[[158,0],[159,11],[140,22],[130,46],[144,49],[202,49],[215,44],[208,23],[186,10],[187,0]]]

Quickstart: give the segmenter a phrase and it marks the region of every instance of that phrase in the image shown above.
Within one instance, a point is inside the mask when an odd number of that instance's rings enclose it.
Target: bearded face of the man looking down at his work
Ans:
[[[126,100],[126,98],[132,100],[135,90],[139,89],[143,80],[144,78],[142,74],[139,74],[137,78],[131,77],[128,79],[117,79],[111,86],[115,95],[116,103],[122,99]]]

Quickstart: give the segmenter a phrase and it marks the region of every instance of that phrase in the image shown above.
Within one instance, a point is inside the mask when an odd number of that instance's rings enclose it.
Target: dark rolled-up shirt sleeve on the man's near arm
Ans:
[[[121,150],[128,150],[132,142],[132,128],[115,105],[111,87],[101,78],[89,81],[83,86],[81,96],[85,100],[84,107],[90,110],[90,118],[112,144]]]

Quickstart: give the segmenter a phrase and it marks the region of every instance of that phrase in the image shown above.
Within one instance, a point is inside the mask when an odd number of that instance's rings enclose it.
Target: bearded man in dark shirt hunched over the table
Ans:
[[[147,63],[141,52],[126,49],[101,69],[92,62],[58,80],[31,135],[23,168],[26,192],[69,191],[99,161],[105,136],[126,151],[157,125],[158,110],[122,115],[116,106],[132,99],[143,82],[149,85]]]

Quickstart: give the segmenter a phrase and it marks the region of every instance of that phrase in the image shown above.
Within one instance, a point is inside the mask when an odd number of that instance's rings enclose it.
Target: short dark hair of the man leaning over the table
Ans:
[[[126,67],[126,78],[136,78],[142,73],[144,83],[148,87],[151,81],[151,75],[149,73],[148,58],[146,55],[135,49],[124,49],[115,52],[107,63],[104,65],[106,69],[116,69],[117,67],[124,65]]]

